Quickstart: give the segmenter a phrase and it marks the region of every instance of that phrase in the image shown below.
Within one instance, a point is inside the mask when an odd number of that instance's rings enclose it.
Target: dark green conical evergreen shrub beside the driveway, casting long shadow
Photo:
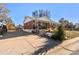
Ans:
[[[65,39],[65,32],[62,25],[59,25],[57,31],[51,36],[52,39],[63,41]]]

